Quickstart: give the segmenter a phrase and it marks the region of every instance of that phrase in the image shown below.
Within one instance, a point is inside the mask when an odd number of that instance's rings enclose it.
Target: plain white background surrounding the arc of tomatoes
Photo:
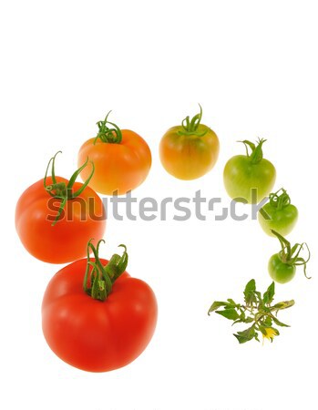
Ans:
[[[1,63],[1,383],[7,410],[263,410],[317,408],[317,13],[314,1],[10,1],[0,9]],[[201,179],[173,179],[159,163],[167,128],[203,108],[218,134],[220,158]],[[128,245],[128,272],[149,282],[159,322],[148,349],[125,368],[79,371],[53,354],[40,306],[60,265],[37,261],[15,233],[15,202],[43,177],[59,149],[57,174],[69,177],[77,150],[97,120],[137,131],[153,165],[134,191],[192,198],[196,190],[230,203],[222,184],[238,139],[262,137],[277,169],[275,188],[300,211],[290,240],[313,252],[307,281],[276,286],[295,299],[273,343],[239,345],[231,322],[207,311],[214,300],[240,300],[279,250],[256,220],[185,222],[109,218],[103,248]],[[248,210],[243,207],[240,210]],[[238,326],[236,330],[240,330]]]

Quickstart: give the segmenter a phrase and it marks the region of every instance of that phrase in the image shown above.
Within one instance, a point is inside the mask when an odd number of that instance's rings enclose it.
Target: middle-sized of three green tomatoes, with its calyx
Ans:
[[[278,193],[282,190],[282,194]],[[258,214],[258,220],[270,236],[275,236],[272,230],[282,236],[288,235],[298,219],[298,210],[291,204],[291,199],[283,188],[270,194],[270,201],[266,203]]]

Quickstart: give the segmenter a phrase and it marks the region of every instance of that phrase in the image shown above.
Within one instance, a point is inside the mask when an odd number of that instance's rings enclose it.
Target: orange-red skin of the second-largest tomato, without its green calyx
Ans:
[[[61,177],[56,177],[56,181],[67,183],[67,179]],[[52,182],[51,177],[46,178],[47,185]],[[75,182],[72,190],[76,191],[82,185]],[[106,216],[102,201],[94,190],[86,187],[77,199],[67,200],[65,212],[54,226],[52,222],[61,200],[54,200],[54,210],[49,209],[48,204],[52,202],[43,179],[26,189],[17,201],[15,229],[26,251],[49,263],[83,258],[87,254],[87,241],[104,235]],[[90,215],[95,215],[97,220]]]

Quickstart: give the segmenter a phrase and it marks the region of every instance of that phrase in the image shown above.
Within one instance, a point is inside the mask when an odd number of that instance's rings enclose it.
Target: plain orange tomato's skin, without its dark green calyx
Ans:
[[[124,195],[128,190],[136,189],[147,178],[151,168],[151,151],[147,142],[129,129],[122,129],[121,134],[120,143],[90,138],[78,152],[78,166],[87,158],[95,165],[89,186],[106,195],[116,192]],[[80,175],[86,180],[89,169],[83,169]]]

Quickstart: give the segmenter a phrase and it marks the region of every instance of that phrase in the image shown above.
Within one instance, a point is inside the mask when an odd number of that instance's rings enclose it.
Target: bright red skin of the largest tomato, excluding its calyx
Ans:
[[[105,302],[94,300],[83,291],[86,266],[87,259],[75,261],[48,283],[42,328],[50,348],[67,364],[107,372],[145,350],[157,323],[157,301],[149,285],[128,272],[119,276]]]

